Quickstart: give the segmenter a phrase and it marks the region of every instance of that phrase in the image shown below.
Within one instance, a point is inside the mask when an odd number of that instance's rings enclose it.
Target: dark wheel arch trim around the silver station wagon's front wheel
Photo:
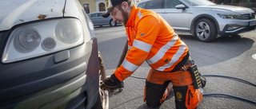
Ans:
[[[220,33],[220,30],[219,30],[219,25],[218,25],[218,21],[211,15],[209,14],[200,14],[198,15],[197,17],[195,17],[192,21],[191,21],[191,25],[190,25],[190,33],[194,34],[194,28],[195,28],[195,25],[196,23],[198,22],[198,20],[202,19],[202,18],[207,18],[207,19],[210,19],[211,21],[214,21],[214,25],[217,29],[217,32]],[[218,34],[217,33],[217,34]],[[193,35],[194,37],[194,35]]]

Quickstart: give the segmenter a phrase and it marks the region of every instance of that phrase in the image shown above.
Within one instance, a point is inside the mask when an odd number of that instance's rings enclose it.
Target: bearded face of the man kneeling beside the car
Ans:
[[[110,12],[110,15],[113,17],[114,21],[122,22],[122,25],[126,26],[129,15],[128,12],[122,9],[122,7],[114,7],[114,9]]]

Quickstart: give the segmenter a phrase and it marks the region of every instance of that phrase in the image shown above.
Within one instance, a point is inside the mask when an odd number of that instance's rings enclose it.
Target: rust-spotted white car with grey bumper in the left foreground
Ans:
[[[77,0],[0,1],[0,108],[108,108],[94,25]]]

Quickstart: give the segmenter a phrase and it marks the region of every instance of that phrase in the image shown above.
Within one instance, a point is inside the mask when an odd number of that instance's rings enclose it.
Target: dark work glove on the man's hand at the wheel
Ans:
[[[112,74],[110,77],[106,78],[101,88],[104,91],[114,91],[118,88],[123,88],[123,82],[118,80],[118,78]]]

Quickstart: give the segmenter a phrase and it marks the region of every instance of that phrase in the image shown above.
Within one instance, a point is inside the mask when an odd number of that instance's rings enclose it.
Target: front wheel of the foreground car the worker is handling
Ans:
[[[95,103],[93,109],[108,109],[109,108],[109,94],[108,91],[103,91],[100,87],[104,83],[104,80],[106,80],[106,72],[105,72],[105,66],[104,61],[102,58],[102,54],[98,51],[98,62],[99,62],[99,93],[98,93],[98,99]]]

